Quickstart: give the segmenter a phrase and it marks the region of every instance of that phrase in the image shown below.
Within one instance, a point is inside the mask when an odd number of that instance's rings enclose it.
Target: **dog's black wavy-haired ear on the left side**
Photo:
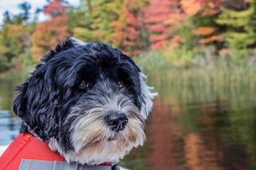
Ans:
[[[14,100],[13,109],[22,119],[23,128],[48,140],[58,131],[58,122],[57,115],[54,114],[55,101],[49,93],[50,85],[44,81],[43,67],[44,65],[40,65],[18,88],[19,94]]]

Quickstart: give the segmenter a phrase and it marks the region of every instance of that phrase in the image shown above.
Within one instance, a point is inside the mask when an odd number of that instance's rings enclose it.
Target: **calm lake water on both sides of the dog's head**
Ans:
[[[191,80],[193,81],[193,80]],[[0,144],[19,132],[11,111],[13,88],[20,81],[0,80]],[[121,165],[133,170],[256,169],[256,88],[200,83],[159,82],[159,96],[147,122],[147,142]]]

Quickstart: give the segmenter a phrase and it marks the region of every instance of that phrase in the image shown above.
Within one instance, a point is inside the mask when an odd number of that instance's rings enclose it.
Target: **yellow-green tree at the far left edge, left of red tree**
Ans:
[[[0,31],[0,55],[3,62],[10,65],[13,59],[22,58],[29,53],[30,31],[28,25],[29,3],[20,3],[20,14],[10,14],[6,11],[3,14],[3,27]]]

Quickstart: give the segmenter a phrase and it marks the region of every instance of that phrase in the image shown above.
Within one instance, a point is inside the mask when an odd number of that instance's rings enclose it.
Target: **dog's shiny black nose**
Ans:
[[[122,112],[112,112],[105,117],[105,120],[108,126],[111,127],[115,132],[124,130],[128,122],[127,116]]]

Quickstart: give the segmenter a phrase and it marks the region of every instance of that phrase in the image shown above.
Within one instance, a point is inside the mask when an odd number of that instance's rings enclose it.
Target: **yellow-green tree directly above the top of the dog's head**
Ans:
[[[84,41],[113,42],[114,20],[118,20],[123,0],[82,0],[78,10],[72,10],[76,24],[70,23],[73,36]],[[84,20],[76,20],[83,18]]]

